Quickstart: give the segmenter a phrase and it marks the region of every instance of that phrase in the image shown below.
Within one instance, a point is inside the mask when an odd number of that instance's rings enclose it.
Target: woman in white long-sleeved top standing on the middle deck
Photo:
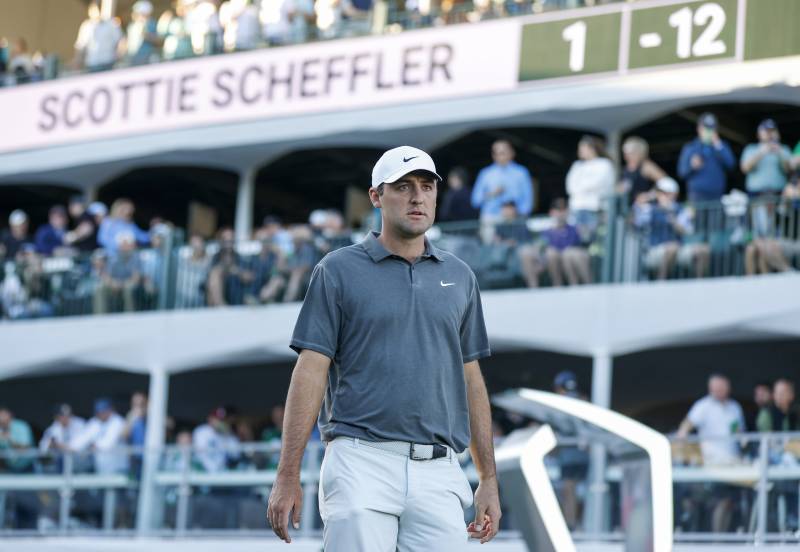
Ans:
[[[584,242],[594,239],[603,202],[614,194],[615,172],[603,141],[596,136],[582,137],[578,142],[578,160],[567,172],[567,195]]]

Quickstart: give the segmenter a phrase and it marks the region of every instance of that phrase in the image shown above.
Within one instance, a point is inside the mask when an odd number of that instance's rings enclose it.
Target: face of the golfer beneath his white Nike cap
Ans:
[[[433,225],[436,214],[436,180],[424,171],[414,171],[397,182],[383,185],[383,195],[370,190],[370,199],[380,207],[383,223],[400,238],[421,236]]]

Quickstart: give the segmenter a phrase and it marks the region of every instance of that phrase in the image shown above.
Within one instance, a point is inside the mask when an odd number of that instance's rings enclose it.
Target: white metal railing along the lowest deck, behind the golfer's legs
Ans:
[[[799,542],[800,432],[672,438],[672,444],[676,541]],[[624,513],[622,469],[616,461],[611,461],[606,471],[604,531],[588,534],[583,530],[590,445],[560,437],[559,446],[546,459],[548,472],[574,538],[617,541],[631,521]],[[131,458],[141,458],[140,449],[120,450]],[[303,460],[302,536],[318,536],[322,527],[316,497],[323,453],[322,443],[312,441]],[[204,451],[190,446],[167,446],[159,452],[157,507],[151,512],[155,523],[148,532],[179,536],[269,531],[265,509],[275,480],[279,444],[238,444],[224,452],[224,469],[205,471],[204,455],[219,454],[219,449]],[[9,457],[31,462],[22,473],[15,473],[4,460]],[[0,452],[0,465],[4,466],[0,472],[0,534],[133,532],[134,518],[141,515],[136,463],[131,462],[129,470],[97,474],[87,472],[89,458],[38,451]],[[477,473],[468,453],[462,456],[462,465],[476,486]],[[54,466],[58,469],[52,469]],[[465,521],[472,515],[466,512]],[[517,534],[517,523],[513,515],[504,517],[504,532]]]

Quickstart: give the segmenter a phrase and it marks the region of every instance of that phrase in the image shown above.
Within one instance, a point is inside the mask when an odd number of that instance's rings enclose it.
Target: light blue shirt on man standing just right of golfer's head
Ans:
[[[498,188],[503,192],[490,197]],[[499,217],[503,204],[509,201],[516,204],[519,216],[533,211],[533,182],[528,169],[513,161],[507,165],[492,163],[482,169],[472,189],[472,206],[481,210],[481,218]]]

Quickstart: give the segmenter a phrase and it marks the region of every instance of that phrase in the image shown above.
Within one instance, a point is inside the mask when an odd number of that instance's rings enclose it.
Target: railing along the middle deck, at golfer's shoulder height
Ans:
[[[586,273],[577,281],[565,268],[567,250],[555,250],[549,243],[553,226],[547,216],[492,224],[447,222],[433,226],[428,237],[469,264],[485,290],[800,268],[797,199],[748,200],[734,194],[721,202],[664,209],[654,202],[629,206],[614,198],[595,215],[592,228],[583,231],[576,225],[581,242],[569,248],[570,262],[584,266],[576,274]],[[294,241],[198,247],[185,245],[177,231],[166,234],[158,249],[132,253],[137,259],[135,281],[125,279],[124,259],[102,251],[51,258],[27,251],[4,265],[0,313],[15,320],[298,301],[319,259],[363,235],[308,233]]]

